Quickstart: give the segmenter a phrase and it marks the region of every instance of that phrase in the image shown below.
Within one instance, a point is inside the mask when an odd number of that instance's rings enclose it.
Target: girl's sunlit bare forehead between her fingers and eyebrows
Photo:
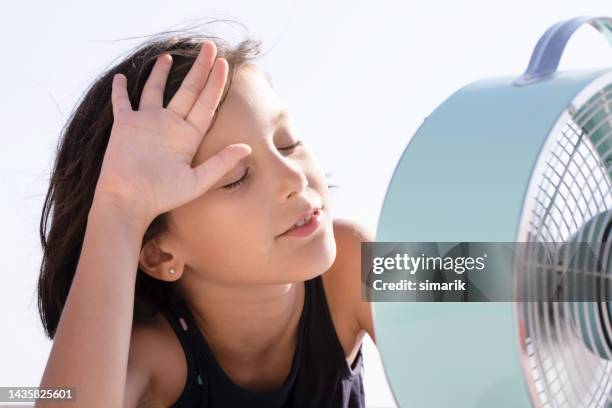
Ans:
[[[265,136],[282,109],[267,74],[255,64],[243,65],[235,72],[213,126],[203,138],[197,163],[228,144],[255,142]]]

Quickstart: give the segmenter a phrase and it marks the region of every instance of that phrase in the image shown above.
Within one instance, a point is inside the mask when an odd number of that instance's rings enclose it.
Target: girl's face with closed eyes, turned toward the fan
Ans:
[[[285,107],[259,67],[247,64],[236,72],[192,165],[232,143],[246,143],[252,153],[205,194],[169,212],[169,262],[183,272],[181,285],[297,282],[333,264],[325,176],[305,135],[283,114]],[[298,141],[304,144],[290,147]],[[224,187],[245,172],[239,185]],[[320,208],[313,234],[280,236],[311,208]]]

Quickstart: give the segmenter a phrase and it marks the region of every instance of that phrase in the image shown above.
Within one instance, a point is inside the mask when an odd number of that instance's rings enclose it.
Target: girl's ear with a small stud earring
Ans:
[[[178,280],[185,269],[169,239],[159,237],[147,242],[140,250],[138,267],[147,275],[167,282]],[[174,273],[171,273],[174,270]]]

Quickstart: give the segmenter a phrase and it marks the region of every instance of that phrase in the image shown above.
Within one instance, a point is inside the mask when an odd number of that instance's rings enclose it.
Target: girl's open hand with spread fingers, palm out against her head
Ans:
[[[155,62],[137,111],[128,99],[125,75],[113,77],[114,121],[96,196],[110,196],[150,222],[204,194],[251,153],[250,146],[233,144],[191,167],[227,80],[227,61],[215,61],[216,54],[215,44],[204,41],[166,108],[162,98],[172,65],[170,55]]]

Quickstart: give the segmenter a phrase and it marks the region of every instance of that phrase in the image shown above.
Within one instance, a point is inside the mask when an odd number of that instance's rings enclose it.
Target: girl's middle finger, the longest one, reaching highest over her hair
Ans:
[[[185,76],[178,91],[174,94],[167,108],[176,112],[181,118],[187,116],[191,107],[196,102],[210,72],[215,57],[217,46],[214,42],[205,40],[202,42],[200,53],[198,54],[193,66]]]

